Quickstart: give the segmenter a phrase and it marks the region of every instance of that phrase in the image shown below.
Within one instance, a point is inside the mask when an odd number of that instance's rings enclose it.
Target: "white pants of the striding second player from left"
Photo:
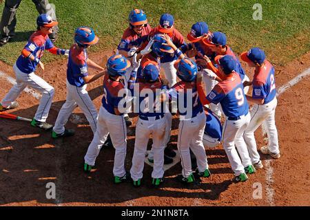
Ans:
[[[87,84],[82,87],[76,87],[71,85],[67,80],[67,98],[65,100],[65,104],[63,104],[58,113],[53,128],[54,132],[63,133],[65,131],[65,124],[76,106],[79,106],[85,114],[87,121],[90,123],[90,127],[92,128],[92,132],[96,132],[98,113],[86,91],[86,87]]]

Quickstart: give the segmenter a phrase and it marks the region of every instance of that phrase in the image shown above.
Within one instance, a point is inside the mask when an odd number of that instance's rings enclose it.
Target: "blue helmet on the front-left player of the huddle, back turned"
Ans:
[[[110,76],[123,76],[130,67],[130,61],[121,54],[111,56],[107,60],[107,74]]]

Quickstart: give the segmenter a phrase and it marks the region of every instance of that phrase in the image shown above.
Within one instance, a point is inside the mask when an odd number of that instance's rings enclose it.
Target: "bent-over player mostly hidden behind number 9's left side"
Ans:
[[[210,109],[205,111],[205,133],[203,134],[203,146],[205,148],[214,148],[222,141],[222,124]]]

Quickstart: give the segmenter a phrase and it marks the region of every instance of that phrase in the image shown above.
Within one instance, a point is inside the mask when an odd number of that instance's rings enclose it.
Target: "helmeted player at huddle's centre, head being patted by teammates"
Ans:
[[[133,63],[136,63],[137,60],[141,58],[139,67],[137,72],[132,72],[132,76],[129,80],[131,85],[132,82],[137,80],[140,82],[143,80],[143,72],[142,69],[145,67],[147,63],[150,61],[157,63],[158,69],[161,69],[161,57],[165,56],[165,54],[174,54],[174,50],[169,45],[165,45],[165,39],[163,39],[163,34],[155,34],[152,41],[149,41],[147,47],[138,54],[134,54]],[[164,163],[171,164],[173,159],[171,157],[175,157],[176,153],[167,148],[167,144],[170,140],[170,131],[172,126],[172,114],[168,111],[165,112],[165,120],[166,120],[166,131],[165,131],[165,157]],[[148,155],[149,162],[153,162],[153,152],[152,150]]]

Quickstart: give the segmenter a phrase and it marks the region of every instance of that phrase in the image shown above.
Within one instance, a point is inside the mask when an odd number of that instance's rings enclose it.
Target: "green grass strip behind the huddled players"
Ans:
[[[285,65],[310,50],[310,0],[50,0],[56,5],[59,39],[56,46],[68,48],[80,25],[89,25],[99,35],[99,45],[91,52],[112,50],[127,28],[132,8],[142,8],[149,23],[158,25],[161,14],[174,15],[176,28],[186,37],[192,24],[206,21],[211,31],[227,34],[228,44],[240,53],[249,47],[262,47],[269,60]],[[262,21],[254,21],[254,3],[262,4]],[[3,10],[4,3],[0,6]],[[21,1],[17,10],[17,41],[0,47],[0,60],[12,65],[31,32],[36,29],[37,10],[32,1]],[[46,53],[43,62],[59,56]]]

